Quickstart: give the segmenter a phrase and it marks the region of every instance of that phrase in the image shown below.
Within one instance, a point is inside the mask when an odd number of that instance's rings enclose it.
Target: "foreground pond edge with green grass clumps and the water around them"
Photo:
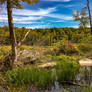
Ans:
[[[30,66],[8,70],[0,74],[0,80],[9,92],[92,92],[91,75],[91,67],[62,59],[54,68]]]

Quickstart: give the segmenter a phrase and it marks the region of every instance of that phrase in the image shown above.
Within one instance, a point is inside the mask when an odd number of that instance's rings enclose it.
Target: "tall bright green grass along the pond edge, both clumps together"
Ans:
[[[30,68],[16,68],[6,72],[8,83],[16,85],[34,84],[37,86],[48,86],[53,84],[58,77],[58,82],[71,81],[78,72],[79,65],[75,61],[63,58],[58,61],[56,67],[56,74],[53,76],[52,69],[39,69],[35,67]]]

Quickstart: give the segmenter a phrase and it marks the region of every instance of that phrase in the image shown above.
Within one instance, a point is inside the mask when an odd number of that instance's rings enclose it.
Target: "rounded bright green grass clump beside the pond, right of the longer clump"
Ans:
[[[79,70],[79,64],[69,59],[62,59],[55,68],[59,82],[72,81]]]

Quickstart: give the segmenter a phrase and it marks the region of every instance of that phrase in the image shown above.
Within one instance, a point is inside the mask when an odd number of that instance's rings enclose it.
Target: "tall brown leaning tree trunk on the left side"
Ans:
[[[10,33],[10,44],[12,47],[10,66],[12,67],[14,61],[17,59],[17,44],[15,31],[13,29],[13,17],[12,17],[12,0],[7,0],[7,13],[8,13],[8,24]]]

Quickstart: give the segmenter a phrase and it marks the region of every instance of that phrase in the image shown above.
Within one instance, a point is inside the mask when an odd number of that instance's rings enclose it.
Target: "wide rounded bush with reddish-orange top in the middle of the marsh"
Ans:
[[[66,55],[80,54],[76,43],[62,40],[49,46],[48,54],[59,55],[61,53]]]

